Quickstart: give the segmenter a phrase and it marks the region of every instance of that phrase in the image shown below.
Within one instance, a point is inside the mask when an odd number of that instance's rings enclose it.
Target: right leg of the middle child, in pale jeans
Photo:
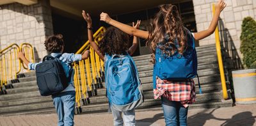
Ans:
[[[132,109],[130,111],[124,111],[124,123],[125,126],[135,125],[135,109]]]

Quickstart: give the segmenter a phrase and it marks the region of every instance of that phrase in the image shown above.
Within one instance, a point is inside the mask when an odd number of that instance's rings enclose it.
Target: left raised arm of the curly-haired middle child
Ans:
[[[89,42],[91,43],[91,46],[94,49],[94,51],[99,55],[100,59],[104,61],[104,55],[99,51],[99,47],[97,43],[94,42],[93,32],[92,32],[92,18],[90,17],[89,13],[85,13],[84,10],[82,15],[84,17],[84,20],[87,22]]]

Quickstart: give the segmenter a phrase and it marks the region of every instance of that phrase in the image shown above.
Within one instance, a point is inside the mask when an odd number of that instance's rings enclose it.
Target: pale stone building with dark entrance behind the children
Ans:
[[[125,24],[142,20],[141,29],[147,29],[149,20],[158,11],[159,4],[175,4],[185,26],[192,32],[207,29],[212,20],[212,3],[216,0],[137,0],[137,1],[79,1],[79,0],[1,0],[0,1],[0,50],[11,43],[28,42],[35,47],[36,61],[47,52],[46,36],[61,33],[65,37],[66,51],[76,52],[87,40],[86,23],[81,11],[93,17],[93,31],[107,26],[99,21],[101,12]],[[227,7],[220,16],[221,42],[230,56],[241,57],[239,52],[241,22],[244,17],[256,17],[256,1],[227,0]],[[200,45],[215,43],[211,35]],[[140,40],[136,55],[148,54],[145,40]]]

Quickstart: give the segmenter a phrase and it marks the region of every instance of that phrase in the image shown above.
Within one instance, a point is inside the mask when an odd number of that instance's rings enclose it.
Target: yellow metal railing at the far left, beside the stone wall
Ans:
[[[29,49],[29,51],[27,51]],[[12,83],[17,79],[17,74],[22,70],[22,63],[17,59],[17,53],[24,51],[28,59],[34,60],[33,47],[29,43],[22,43],[19,47],[16,43],[9,45],[0,51],[0,91],[5,88],[12,88]],[[10,81],[10,82],[9,82]],[[6,92],[6,91],[5,91]]]

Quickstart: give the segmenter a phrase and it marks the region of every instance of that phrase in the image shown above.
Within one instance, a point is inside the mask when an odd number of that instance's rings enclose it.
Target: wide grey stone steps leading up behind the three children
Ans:
[[[202,94],[198,94],[196,83],[196,102],[189,109],[230,107],[232,100],[223,100],[220,72],[215,45],[196,47],[198,54],[198,75]],[[154,100],[152,88],[153,65],[149,62],[150,55],[133,57],[143,84],[145,102],[138,109],[161,107],[160,100]],[[6,95],[0,95],[0,115],[45,114],[56,113],[51,97],[41,97],[36,86],[35,72],[20,75],[19,83],[13,83]],[[81,106],[82,113],[99,113],[108,111],[108,99],[104,88],[97,89],[97,96],[90,97],[90,104]]]

